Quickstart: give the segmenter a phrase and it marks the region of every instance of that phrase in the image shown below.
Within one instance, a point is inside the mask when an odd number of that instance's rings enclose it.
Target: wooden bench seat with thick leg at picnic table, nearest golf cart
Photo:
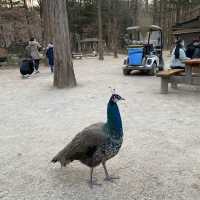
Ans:
[[[161,93],[168,93],[168,83],[170,82],[170,77],[174,75],[180,75],[184,72],[184,69],[169,69],[164,70],[156,74],[156,76],[161,78]],[[175,82],[172,83],[172,88],[177,88],[177,84]]]

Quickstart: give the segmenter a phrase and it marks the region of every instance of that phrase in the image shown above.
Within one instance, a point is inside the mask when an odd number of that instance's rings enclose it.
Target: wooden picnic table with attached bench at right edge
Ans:
[[[200,85],[200,59],[186,60],[185,72],[183,70],[167,70],[158,73],[161,77],[161,93],[168,93],[168,83],[172,88],[177,88],[177,84]]]

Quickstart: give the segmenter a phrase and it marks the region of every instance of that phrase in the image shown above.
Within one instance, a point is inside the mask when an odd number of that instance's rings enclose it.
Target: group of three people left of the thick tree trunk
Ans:
[[[28,42],[28,45],[25,48],[25,58],[22,60],[20,65],[20,73],[23,77],[28,78],[32,73],[39,73],[39,65],[41,54],[40,50],[42,46],[35,40],[35,38],[31,38]],[[45,49],[46,57],[48,59],[48,64],[51,72],[54,71],[54,46],[50,42]]]

